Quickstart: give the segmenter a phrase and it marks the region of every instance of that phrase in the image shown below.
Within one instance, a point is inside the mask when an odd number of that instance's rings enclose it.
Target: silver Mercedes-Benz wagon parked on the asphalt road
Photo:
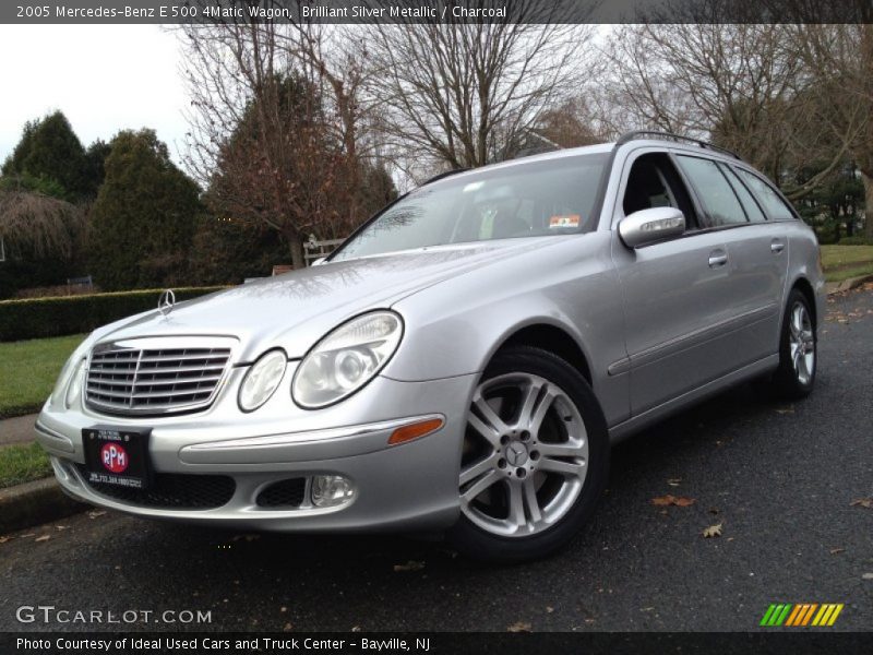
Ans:
[[[85,340],[36,431],[96,505],[540,557],[611,443],[752,378],[810,393],[823,290],[764,176],[636,132],[435,178],[319,265],[165,294]]]

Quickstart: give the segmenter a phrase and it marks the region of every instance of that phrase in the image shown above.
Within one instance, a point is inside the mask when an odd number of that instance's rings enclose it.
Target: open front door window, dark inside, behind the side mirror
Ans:
[[[627,176],[622,199],[624,215],[653,207],[677,207],[685,215],[687,226],[694,227],[694,205],[667,153],[641,155]]]

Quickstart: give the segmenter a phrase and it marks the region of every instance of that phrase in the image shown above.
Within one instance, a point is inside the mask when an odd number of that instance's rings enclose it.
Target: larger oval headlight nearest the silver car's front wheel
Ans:
[[[301,407],[315,409],[350,396],[382,370],[403,336],[392,311],[352,319],[321,340],[294,377],[291,393]]]

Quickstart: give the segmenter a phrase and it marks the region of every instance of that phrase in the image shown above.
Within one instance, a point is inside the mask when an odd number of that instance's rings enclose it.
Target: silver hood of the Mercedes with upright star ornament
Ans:
[[[97,341],[178,335],[230,335],[240,340],[237,361],[252,361],[274,347],[299,358],[343,321],[387,308],[433,284],[540,248],[554,238],[503,239],[438,246],[328,262],[258,279],[180,302],[163,315],[151,311],[100,331]],[[157,300],[157,298],[155,298]]]

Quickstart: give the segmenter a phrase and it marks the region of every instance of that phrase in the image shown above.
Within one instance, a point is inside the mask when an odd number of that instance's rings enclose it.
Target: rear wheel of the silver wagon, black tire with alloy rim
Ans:
[[[806,296],[793,288],[788,295],[779,336],[779,368],[773,376],[778,397],[800,400],[815,385],[818,338],[815,318]]]

